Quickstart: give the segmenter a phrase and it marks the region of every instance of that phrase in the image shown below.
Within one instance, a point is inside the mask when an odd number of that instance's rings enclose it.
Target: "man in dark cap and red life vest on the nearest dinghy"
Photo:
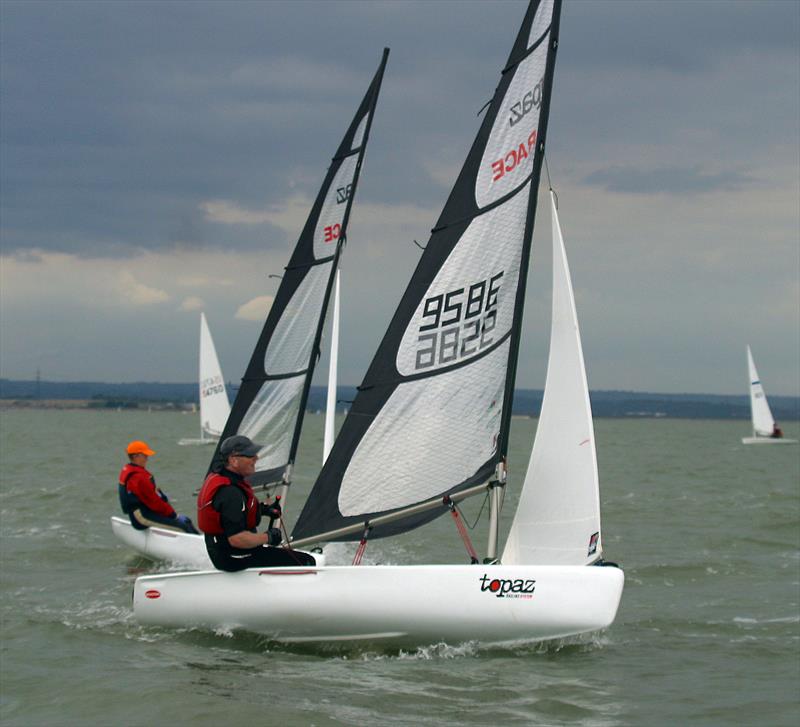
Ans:
[[[301,551],[276,548],[278,528],[259,533],[262,515],[279,519],[277,503],[260,503],[247,481],[256,471],[260,447],[245,436],[228,437],[219,446],[212,471],[197,497],[197,524],[205,533],[206,549],[216,568],[240,571],[261,566],[315,565]]]

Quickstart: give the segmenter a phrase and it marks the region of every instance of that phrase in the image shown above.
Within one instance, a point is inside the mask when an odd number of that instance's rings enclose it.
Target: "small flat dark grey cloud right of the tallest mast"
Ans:
[[[696,194],[698,192],[733,191],[753,183],[746,174],[722,172],[707,174],[700,169],[630,169],[610,167],[588,175],[584,182],[609,192],[624,194]]]

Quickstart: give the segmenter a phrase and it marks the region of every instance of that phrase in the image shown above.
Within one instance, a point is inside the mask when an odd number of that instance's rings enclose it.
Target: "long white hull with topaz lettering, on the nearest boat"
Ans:
[[[246,630],[276,641],[541,641],[608,627],[625,576],[597,566],[253,568],[137,578],[146,625]]]

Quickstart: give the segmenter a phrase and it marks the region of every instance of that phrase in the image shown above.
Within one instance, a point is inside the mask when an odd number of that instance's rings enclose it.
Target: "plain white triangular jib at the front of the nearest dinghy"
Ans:
[[[502,562],[586,565],[600,557],[592,409],[553,193],[553,312],[542,410]]]

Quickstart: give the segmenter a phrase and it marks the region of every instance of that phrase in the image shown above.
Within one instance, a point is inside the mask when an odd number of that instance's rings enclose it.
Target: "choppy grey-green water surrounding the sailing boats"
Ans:
[[[0,412],[4,725],[795,725],[800,719],[800,447],[740,444],[747,422],[596,422],[607,558],[627,576],[611,629],[512,649],[278,646],[142,628],[146,560],[117,544],[122,446],[144,438],[190,512],[196,417]],[[535,423],[515,420],[510,490]],[[797,425],[785,427],[797,437]],[[292,492],[316,473],[310,416]],[[506,527],[514,497],[506,500]],[[290,508],[292,503],[289,503]],[[469,515],[480,503],[465,506]],[[295,509],[295,512],[297,510]],[[485,521],[475,540],[485,538]],[[352,547],[329,557],[349,561]],[[383,562],[465,562],[444,518],[370,544]]]

